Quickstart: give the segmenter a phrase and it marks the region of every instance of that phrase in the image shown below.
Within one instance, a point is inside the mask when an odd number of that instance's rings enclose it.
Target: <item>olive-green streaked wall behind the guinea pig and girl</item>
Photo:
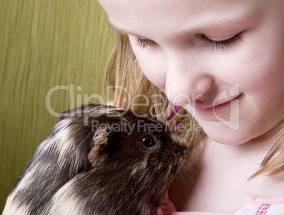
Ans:
[[[57,122],[50,110],[101,102],[90,98],[114,44],[106,19],[95,0],[0,0],[0,213]]]

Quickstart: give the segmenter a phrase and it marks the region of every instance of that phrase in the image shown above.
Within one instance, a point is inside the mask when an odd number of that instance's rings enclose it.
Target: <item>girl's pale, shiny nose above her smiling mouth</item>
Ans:
[[[166,94],[178,106],[191,104],[212,86],[213,78],[198,57],[170,56],[165,65]]]

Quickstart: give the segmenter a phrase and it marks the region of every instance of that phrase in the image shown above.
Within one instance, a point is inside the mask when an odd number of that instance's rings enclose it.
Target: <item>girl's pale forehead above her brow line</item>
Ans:
[[[165,27],[196,29],[230,25],[263,11],[265,0],[99,0],[117,32],[147,32]],[[278,1],[278,0],[276,0]],[[206,26],[207,25],[207,26]],[[158,30],[157,27],[161,29]]]

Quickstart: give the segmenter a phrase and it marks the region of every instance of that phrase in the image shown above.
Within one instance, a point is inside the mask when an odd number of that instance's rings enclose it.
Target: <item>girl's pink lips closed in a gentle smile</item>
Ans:
[[[241,94],[232,97],[230,100],[228,101],[223,101],[224,99],[218,101],[215,103],[214,106],[210,106],[207,108],[202,108],[199,106],[194,106],[194,109],[199,113],[199,114],[203,114],[203,115],[213,115],[215,111],[225,111],[228,108],[230,108],[231,102],[235,99],[239,99],[239,97],[241,96]]]

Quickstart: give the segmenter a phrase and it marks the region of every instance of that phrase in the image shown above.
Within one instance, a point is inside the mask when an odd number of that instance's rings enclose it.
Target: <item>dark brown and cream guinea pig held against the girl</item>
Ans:
[[[8,195],[7,214],[152,215],[189,145],[129,109],[61,113]]]

